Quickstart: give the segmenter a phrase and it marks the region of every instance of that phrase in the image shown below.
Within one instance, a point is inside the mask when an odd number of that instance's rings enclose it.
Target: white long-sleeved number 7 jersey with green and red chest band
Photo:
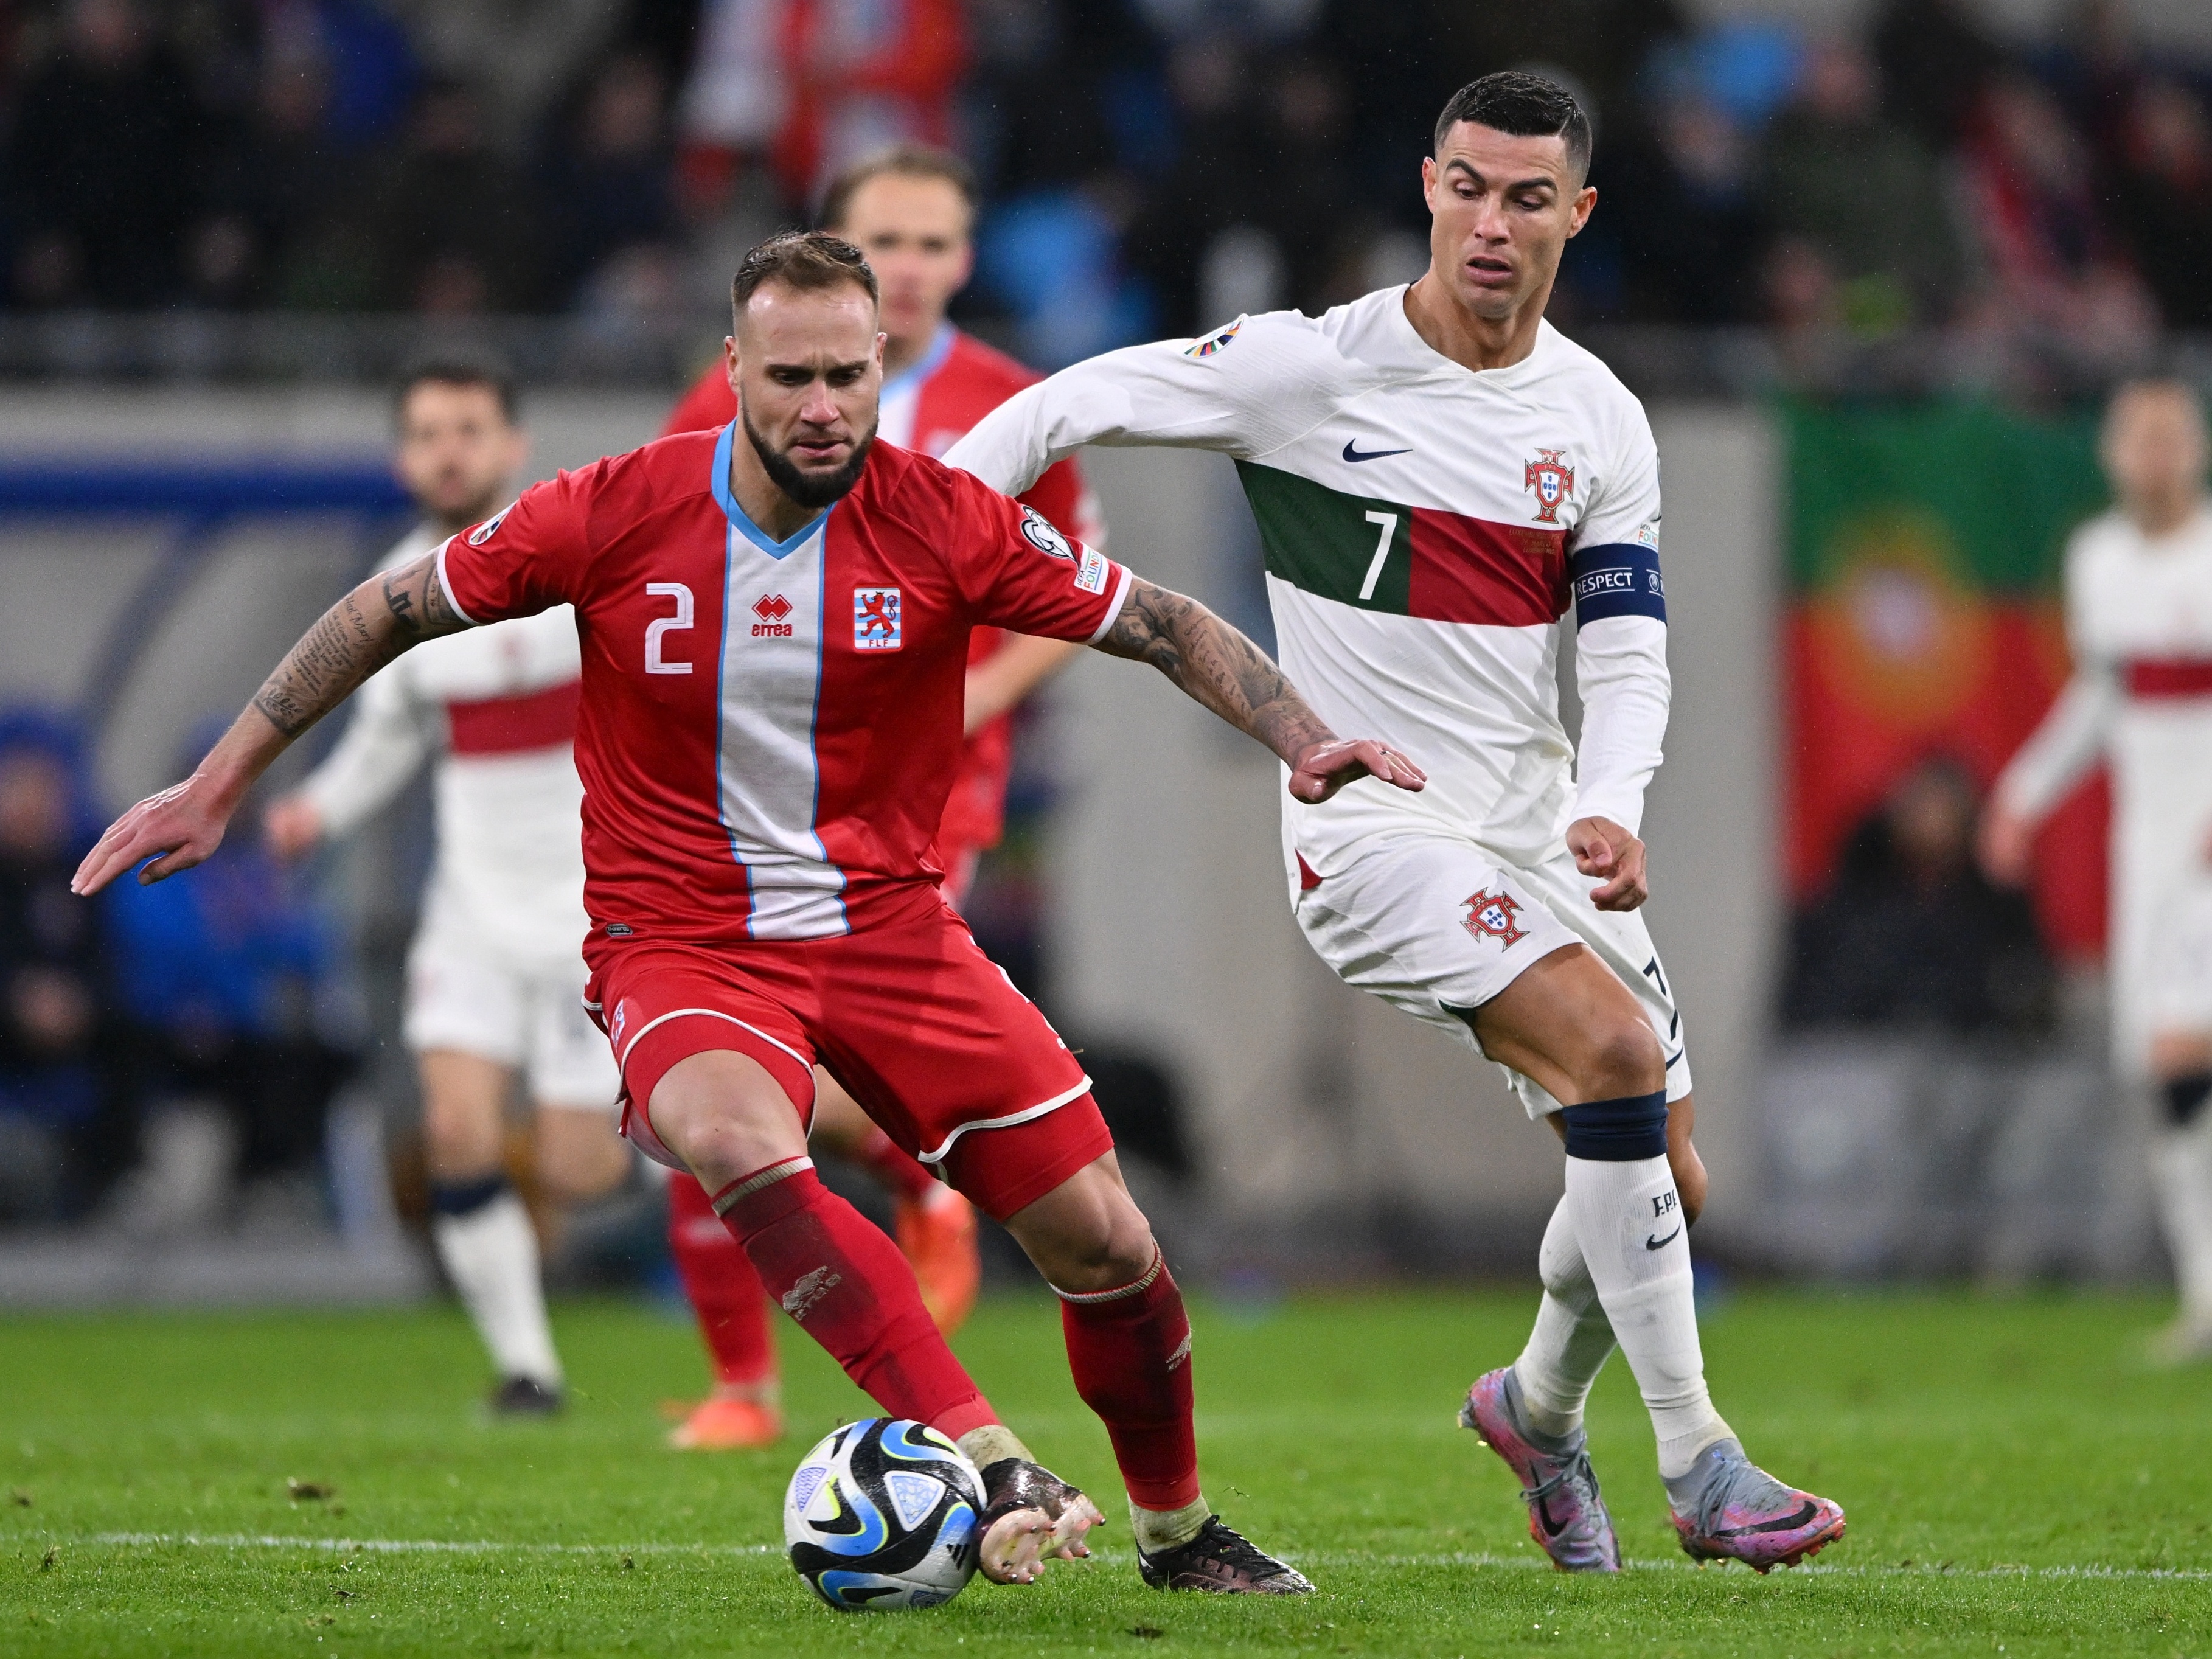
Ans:
[[[1413,332],[1405,292],[1077,363],[947,453],[1004,491],[1086,442],[1237,458],[1292,684],[1340,737],[1389,739],[1429,774],[1422,794],[1360,781],[1285,805],[1318,876],[1407,827],[1524,865],[1577,816],[1637,830],[1666,732],[1659,458],[1641,405],[1548,323],[1524,361],[1471,372]],[[1557,681],[1571,604],[1579,792]]]

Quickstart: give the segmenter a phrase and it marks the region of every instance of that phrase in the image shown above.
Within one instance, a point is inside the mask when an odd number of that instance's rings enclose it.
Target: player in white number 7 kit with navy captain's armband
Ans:
[[[1659,458],[1626,387],[1544,323],[1597,201],[1588,161],[1564,88],[1486,75],[1444,106],[1422,164],[1418,283],[1077,363],[947,460],[1022,489],[1086,442],[1237,458],[1285,670],[1325,719],[1429,765],[1418,796],[1354,783],[1285,807],[1298,925],[1345,982],[1502,1064],[1566,1141],[1535,1332],[1462,1422],[1522,1478],[1557,1566],[1617,1571],[1582,1407],[1619,1343],[1683,1548],[1767,1571],[1845,1520],[1752,1464],[1705,1389],[1690,1066],[1632,914],[1670,697]],[[1557,712],[1571,604],[1579,772]]]

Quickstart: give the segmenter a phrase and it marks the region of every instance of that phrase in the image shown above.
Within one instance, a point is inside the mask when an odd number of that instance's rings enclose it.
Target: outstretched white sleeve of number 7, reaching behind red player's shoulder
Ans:
[[[1006,398],[945,465],[1020,495],[1084,445],[1265,456],[1329,416],[1332,365],[1349,367],[1298,312],[1239,316],[1197,341],[1126,345]]]

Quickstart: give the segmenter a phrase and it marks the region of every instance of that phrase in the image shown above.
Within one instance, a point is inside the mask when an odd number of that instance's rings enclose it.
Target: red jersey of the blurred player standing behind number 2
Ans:
[[[973,334],[951,323],[938,327],[922,356],[883,383],[883,414],[876,436],[900,449],[942,456],[967,438],[969,427],[991,414],[1040,376],[1004,352],[993,352]],[[737,396],[717,363],[701,374],[668,416],[664,431],[701,431],[737,420]],[[1106,546],[1097,498],[1084,487],[1084,476],[1068,456],[1044,469],[1024,502],[1062,526],[1084,546]],[[969,661],[982,661],[1000,646],[1000,635],[978,628],[969,644]],[[938,834],[945,847],[995,847],[1006,821],[1006,779],[1013,774],[1013,719],[1000,714],[978,730],[962,750],[960,776],[945,803]]]

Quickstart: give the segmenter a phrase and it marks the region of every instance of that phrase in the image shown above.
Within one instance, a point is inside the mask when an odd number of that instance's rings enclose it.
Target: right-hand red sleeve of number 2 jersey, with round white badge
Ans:
[[[1071,542],[1035,507],[962,471],[953,480],[953,575],[975,622],[1044,639],[1095,641],[1121,613],[1128,571]]]

